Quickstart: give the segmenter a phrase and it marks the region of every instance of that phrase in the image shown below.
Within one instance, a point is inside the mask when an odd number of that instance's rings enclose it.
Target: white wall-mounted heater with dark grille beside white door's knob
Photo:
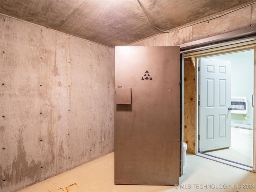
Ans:
[[[247,106],[246,97],[231,97],[231,113],[247,114]]]

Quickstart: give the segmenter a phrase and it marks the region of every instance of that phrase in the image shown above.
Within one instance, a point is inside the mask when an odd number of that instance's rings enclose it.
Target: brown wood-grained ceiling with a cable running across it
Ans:
[[[251,0],[140,0],[158,28],[170,30]],[[159,34],[137,0],[1,0],[0,12],[96,42],[123,46]]]

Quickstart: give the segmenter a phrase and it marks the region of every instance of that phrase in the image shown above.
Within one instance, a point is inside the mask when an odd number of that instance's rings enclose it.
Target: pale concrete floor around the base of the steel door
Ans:
[[[187,154],[176,186],[114,185],[114,152],[20,192],[255,192],[256,173]]]

